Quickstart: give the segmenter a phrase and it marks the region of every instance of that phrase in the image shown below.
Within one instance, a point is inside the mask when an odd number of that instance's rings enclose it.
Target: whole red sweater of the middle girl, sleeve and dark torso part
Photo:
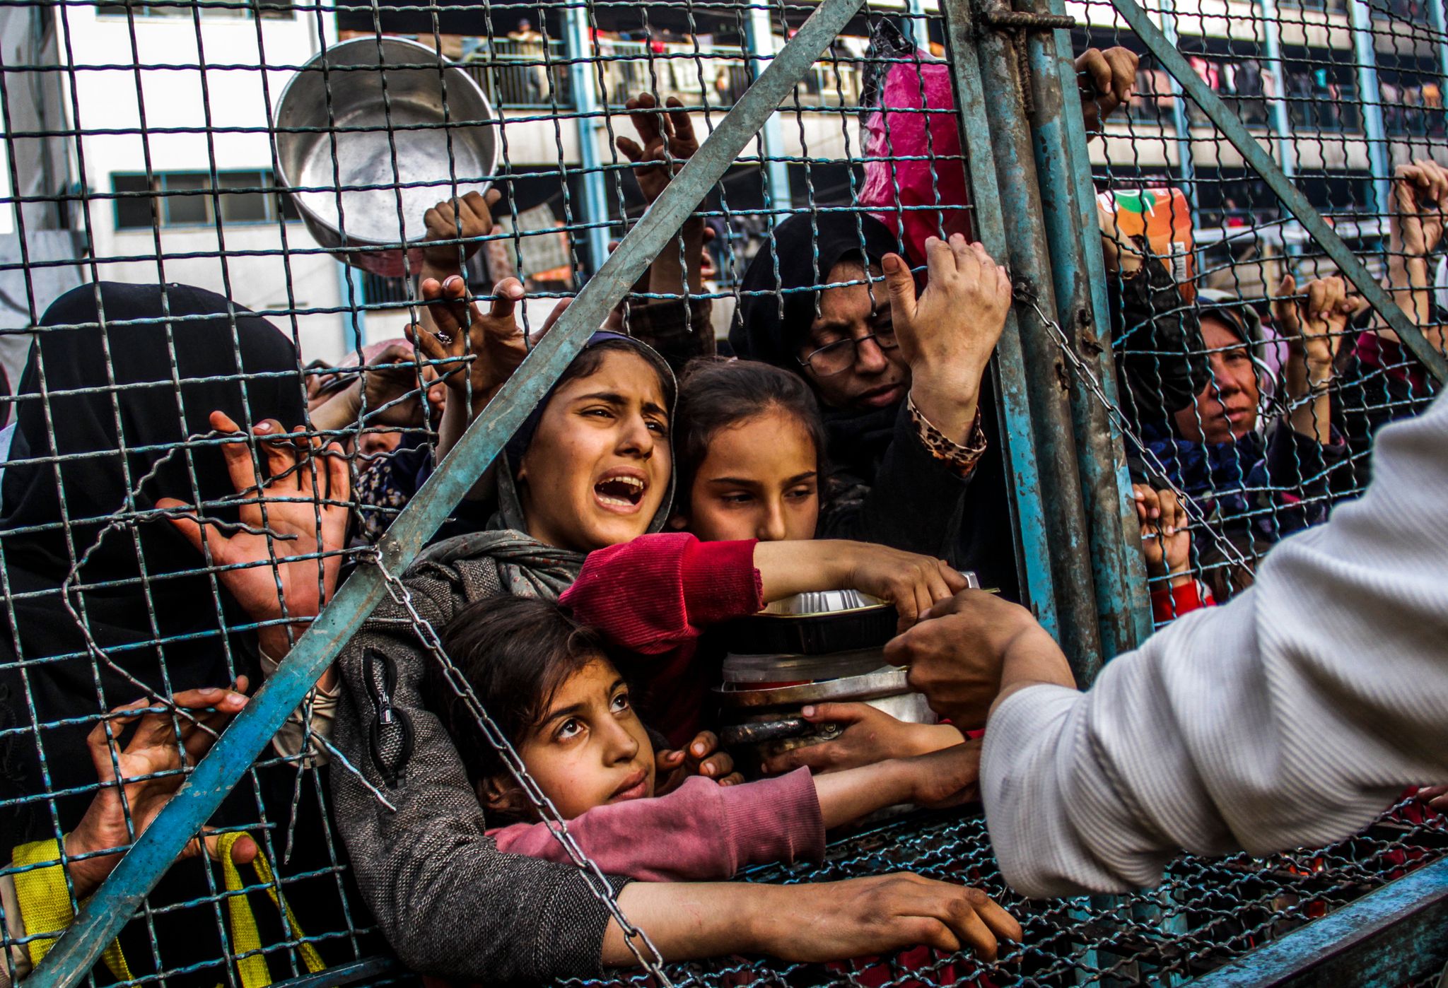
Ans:
[[[615,645],[660,657],[639,707],[675,748],[699,732],[704,702],[718,681],[718,670],[698,661],[698,636],[765,606],[753,540],[701,542],[686,532],[640,535],[589,553],[559,603]]]

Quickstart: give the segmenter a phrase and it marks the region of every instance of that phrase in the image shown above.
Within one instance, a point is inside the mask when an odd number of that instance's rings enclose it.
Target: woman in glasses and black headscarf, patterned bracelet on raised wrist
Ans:
[[[998,434],[986,367],[1009,284],[979,244],[930,243],[940,279],[917,301],[883,223],[792,216],[744,272],[730,343],[801,375],[820,398],[835,473],[818,535],[940,555],[1008,589],[1014,538],[1003,464],[986,440]],[[921,318],[927,298],[940,305]]]

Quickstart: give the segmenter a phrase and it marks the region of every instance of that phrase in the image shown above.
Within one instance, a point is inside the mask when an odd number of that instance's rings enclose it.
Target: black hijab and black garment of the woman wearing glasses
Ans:
[[[811,333],[821,304],[821,286],[840,284],[838,265],[880,276],[886,255],[901,244],[883,223],[863,211],[796,214],[775,227],[744,272],[738,317],[730,330],[734,353],[792,370],[820,396],[834,466],[831,498],[820,516],[820,535],[882,542],[925,553],[976,570],[986,586],[1008,593],[1015,587],[1014,540],[1005,501],[1005,473],[999,444],[990,441],[973,472],[961,476],[934,456],[906,409],[909,367],[895,349],[888,292],[872,286],[876,311],[883,318],[870,333],[886,336],[876,343],[896,367],[891,378],[905,388],[883,406],[846,404],[833,396],[804,357],[818,346]],[[833,273],[831,273],[833,272]],[[840,375],[846,378],[847,375]],[[998,435],[990,375],[980,385],[980,435]]]

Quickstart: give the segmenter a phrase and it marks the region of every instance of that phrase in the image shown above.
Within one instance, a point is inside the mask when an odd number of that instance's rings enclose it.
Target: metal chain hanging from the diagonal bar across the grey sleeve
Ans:
[[[549,833],[552,833],[553,839],[562,845],[569,861],[572,861],[579,869],[579,874],[582,874],[584,881],[588,884],[588,891],[594,895],[594,898],[604,904],[608,914],[614,917],[615,923],[618,923],[618,929],[624,933],[624,943],[628,945],[628,950],[633,952],[639,963],[647,969],[650,975],[653,975],[660,988],[673,988],[673,982],[663,972],[663,955],[659,953],[659,949],[653,945],[653,940],[649,939],[649,934],[630,923],[628,917],[624,916],[623,908],[620,908],[618,900],[614,895],[613,885],[610,885],[604,872],[598,868],[592,858],[584,853],[584,849],[578,846],[576,840],[573,840],[573,836],[568,832],[568,822],[563,820],[557,807],[553,806],[553,801],[543,793],[542,788],[539,788],[537,781],[534,781],[534,778],[529,774],[529,770],[518,757],[513,742],[508,741],[508,736],[488,715],[482,703],[478,700],[478,694],[473,693],[472,684],[458,670],[458,667],[453,665],[447,652],[443,651],[442,639],[437,636],[437,629],[433,628],[427,618],[418,613],[407,584],[388,571],[387,566],[382,563],[382,554],[376,548],[365,551],[362,554],[362,560],[376,566],[378,571],[382,574],[384,583],[387,584],[388,596],[392,597],[394,603],[407,610],[413,631],[417,634],[417,638],[423,642],[423,647],[429,651],[429,654],[437,660],[437,664],[442,667],[447,680],[447,686],[459,699],[463,700],[463,703],[468,704],[473,720],[488,739],[488,744],[497,749],[504,765],[507,765],[508,774],[513,775],[513,780],[523,788],[523,793],[529,797],[533,809],[537,810],[543,823],[547,826]],[[643,943],[649,956],[644,956],[644,950],[640,949],[637,942]]]

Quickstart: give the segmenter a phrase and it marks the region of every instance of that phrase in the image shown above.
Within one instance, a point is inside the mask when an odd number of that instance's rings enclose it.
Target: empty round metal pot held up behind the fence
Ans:
[[[424,237],[423,214],[491,184],[497,127],[478,84],[433,49],[358,38],[313,58],[282,91],[278,179],[317,243],[400,278],[404,243]],[[421,247],[408,259],[416,272]]]

